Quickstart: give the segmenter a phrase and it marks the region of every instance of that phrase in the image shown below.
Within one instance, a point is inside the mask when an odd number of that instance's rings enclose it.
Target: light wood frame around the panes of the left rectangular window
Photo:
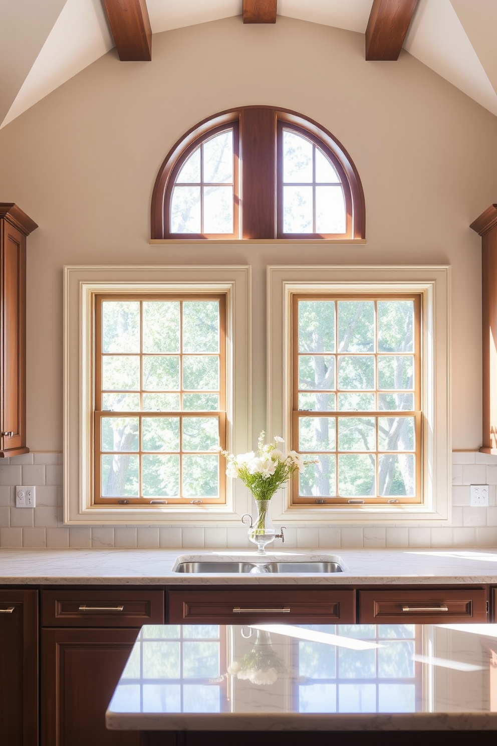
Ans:
[[[102,381],[101,381],[101,360],[103,356],[102,342],[101,342],[101,328],[102,328],[102,304],[105,301],[218,301],[219,302],[219,333],[220,333],[220,345],[219,345],[219,407],[218,411],[203,411],[203,410],[171,410],[171,411],[148,411],[148,410],[137,410],[135,411],[107,411],[102,409]],[[181,317],[183,319],[183,316]],[[182,322],[183,323],[183,322]],[[140,327],[142,326],[142,309],[140,310]],[[157,418],[157,417],[174,417],[183,421],[183,419],[193,419],[197,417],[212,417],[218,419],[219,422],[219,443],[223,450],[226,449],[226,364],[227,364],[227,297],[225,293],[200,293],[195,295],[189,295],[188,293],[177,294],[177,293],[143,293],[137,295],[129,295],[127,293],[105,293],[95,295],[95,408],[93,411],[93,504],[95,506],[109,506],[123,508],[128,505],[139,505],[144,510],[150,510],[158,504],[158,501],[164,501],[166,505],[182,505],[188,507],[189,504],[203,504],[203,505],[215,505],[226,503],[226,476],[224,468],[224,457],[221,454],[218,455],[218,476],[219,476],[219,495],[217,498],[162,498],[157,496],[155,498],[144,498],[141,497],[126,497],[121,495],[120,497],[103,497],[101,495],[101,456],[104,455],[104,451],[101,449],[101,419],[103,417],[133,417],[139,419],[139,433],[142,431],[142,419],[144,418]],[[139,351],[140,359],[143,357],[144,352],[142,348]],[[183,357],[183,352],[179,352],[178,356]],[[180,366],[181,369],[181,366]],[[140,364],[140,370],[142,365]],[[140,388],[139,395],[142,396],[144,389]],[[180,386],[180,394],[183,394],[183,386]],[[181,424],[180,424],[180,439],[181,439]],[[122,455],[136,455],[141,460],[143,451],[141,445],[141,435],[139,436],[139,450],[138,451],[123,451]],[[148,453],[148,451],[146,451]],[[183,450],[180,448],[178,456],[180,458],[180,482],[182,473],[182,457]],[[139,468],[139,473],[142,473],[142,467]],[[141,481],[141,480],[140,480]]]

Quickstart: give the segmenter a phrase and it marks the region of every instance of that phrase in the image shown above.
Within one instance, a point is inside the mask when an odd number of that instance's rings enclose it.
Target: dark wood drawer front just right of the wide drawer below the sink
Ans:
[[[359,622],[390,624],[400,619],[430,624],[487,621],[485,589],[359,591]]]

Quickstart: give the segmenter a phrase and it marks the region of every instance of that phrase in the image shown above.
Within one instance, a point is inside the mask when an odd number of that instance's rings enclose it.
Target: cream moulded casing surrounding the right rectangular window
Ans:
[[[451,520],[450,267],[268,266],[268,436],[291,442],[291,296],[305,292],[416,292],[422,298],[422,502],[291,505],[272,499],[273,521],[302,525],[445,525]]]

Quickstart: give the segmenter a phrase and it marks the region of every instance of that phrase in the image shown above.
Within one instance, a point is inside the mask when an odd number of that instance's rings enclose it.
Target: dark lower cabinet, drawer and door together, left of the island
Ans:
[[[164,623],[164,591],[41,592],[41,746],[138,746],[105,711],[142,624]]]

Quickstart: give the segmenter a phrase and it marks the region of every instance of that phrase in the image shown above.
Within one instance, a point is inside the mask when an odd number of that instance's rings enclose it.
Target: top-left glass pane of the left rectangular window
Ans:
[[[139,351],[139,301],[103,301],[102,352]]]

